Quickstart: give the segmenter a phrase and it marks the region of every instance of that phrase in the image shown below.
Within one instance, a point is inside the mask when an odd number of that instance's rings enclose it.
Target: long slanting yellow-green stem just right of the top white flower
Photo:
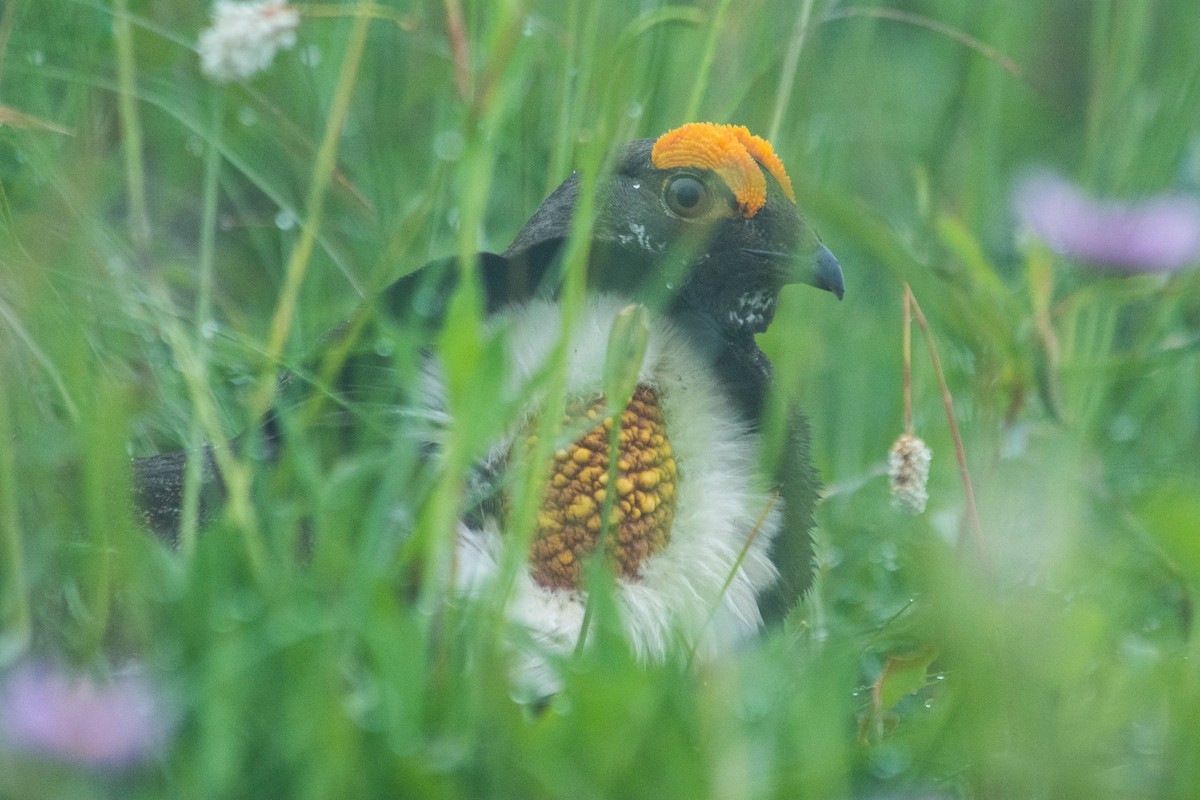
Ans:
[[[275,314],[271,317],[271,327],[266,337],[264,373],[259,378],[258,391],[251,404],[256,416],[265,414],[275,399],[275,372],[283,356],[283,347],[287,343],[288,332],[292,330],[292,323],[295,320],[300,287],[304,284],[305,273],[308,270],[313,245],[317,241],[317,231],[320,229],[325,192],[329,190],[334,169],[337,166],[338,142],[349,114],[350,98],[354,95],[354,85],[366,47],[367,29],[371,25],[371,14],[368,13],[371,6],[368,0],[360,0],[358,4],[354,26],[350,29],[349,41],[346,44],[346,55],[342,59],[342,71],[334,90],[329,121],[325,124],[325,133],[317,149],[317,162],[312,172],[312,182],[308,186],[307,216],[300,228],[300,237],[288,257],[283,289],[275,306]]]

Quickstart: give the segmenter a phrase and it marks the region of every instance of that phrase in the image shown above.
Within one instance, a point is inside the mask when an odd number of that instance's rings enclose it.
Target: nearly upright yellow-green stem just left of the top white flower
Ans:
[[[150,247],[150,216],[146,213],[145,164],[142,161],[142,121],[137,108],[137,67],[133,60],[133,25],[128,0],[113,4],[113,37],[116,44],[118,118],[125,155],[125,192],[130,204],[130,236],[139,259]]]

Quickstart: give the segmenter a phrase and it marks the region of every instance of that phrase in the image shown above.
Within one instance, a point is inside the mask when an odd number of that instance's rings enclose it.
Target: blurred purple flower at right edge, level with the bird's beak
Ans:
[[[1063,255],[1122,272],[1164,272],[1200,259],[1200,200],[1193,197],[1103,201],[1043,172],[1018,184],[1014,204],[1025,225]]]

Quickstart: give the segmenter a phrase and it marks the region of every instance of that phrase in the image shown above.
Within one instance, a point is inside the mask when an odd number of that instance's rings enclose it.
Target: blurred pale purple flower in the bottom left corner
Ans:
[[[24,664],[0,684],[0,745],[89,766],[124,766],[164,741],[158,697],[136,670],[100,682]]]

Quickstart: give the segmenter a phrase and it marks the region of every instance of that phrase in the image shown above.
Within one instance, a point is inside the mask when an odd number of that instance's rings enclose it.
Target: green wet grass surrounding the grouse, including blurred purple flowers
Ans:
[[[0,796],[1200,796],[1196,53],[1194,0],[6,0]],[[785,625],[700,667],[601,626],[515,702],[371,398],[230,456],[178,548],[137,524],[131,457],[252,431],[364,297],[690,120],[770,139],[846,271],[762,337],[827,485]],[[434,342],[466,386],[478,330]]]

